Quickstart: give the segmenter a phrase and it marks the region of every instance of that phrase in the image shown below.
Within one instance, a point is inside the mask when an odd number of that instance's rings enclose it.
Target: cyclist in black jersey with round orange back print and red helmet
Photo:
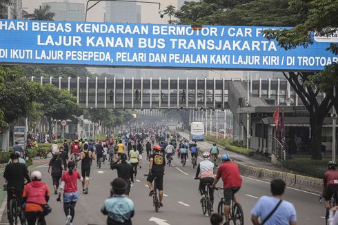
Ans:
[[[166,159],[163,155],[160,154],[162,148],[161,146],[155,145],[152,146],[154,154],[150,155],[149,159],[149,174],[147,177],[148,188],[150,189],[149,196],[154,195],[155,190],[152,189],[152,182],[156,179],[156,186],[159,190],[159,206],[163,207],[163,175],[164,175],[164,166],[166,166]]]

